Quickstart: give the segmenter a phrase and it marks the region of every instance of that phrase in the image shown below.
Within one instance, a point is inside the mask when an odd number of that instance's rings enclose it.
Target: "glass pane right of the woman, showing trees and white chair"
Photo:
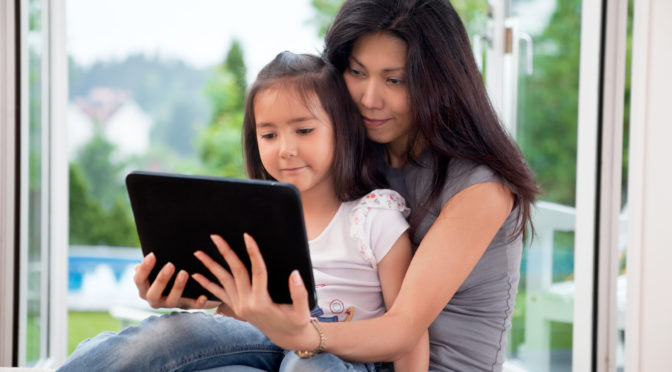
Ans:
[[[542,194],[523,250],[507,359],[528,371],[570,371],[581,0],[514,0],[510,11],[528,40],[518,45],[514,78],[516,140]]]

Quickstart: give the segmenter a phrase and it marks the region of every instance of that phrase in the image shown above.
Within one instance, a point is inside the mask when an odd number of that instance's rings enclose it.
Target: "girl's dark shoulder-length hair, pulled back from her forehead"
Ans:
[[[313,109],[315,97],[334,128],[334,189],[341,201],[357,199],[375,187],[385,185],[373,167],[362,168],[368,158],[366,132],[357,106],[352,101],[341,73],[320,57],[282,52],[267,64],[252,84],[245,103],[243,148],[250,178],[273,180],[259,156],[254,100],[260,91],[271,88],[294,89],[306,107]]]

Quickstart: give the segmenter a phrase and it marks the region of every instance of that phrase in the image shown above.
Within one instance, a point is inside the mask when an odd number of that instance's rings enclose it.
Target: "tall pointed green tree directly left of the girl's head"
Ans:
[[[213,110],[210,124],[199,136],[201,159],[208,173],[244,177],[241,129],[247,77],[243,49],[237,40],[213,75],[206,85]]]

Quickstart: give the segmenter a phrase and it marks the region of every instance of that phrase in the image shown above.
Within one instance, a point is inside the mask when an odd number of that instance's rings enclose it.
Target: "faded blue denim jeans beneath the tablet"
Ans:
[[[58,371],[369,372],[376,367],[348,363],[326,353],[299,359],[249,323],[176,312],[84,340]]]

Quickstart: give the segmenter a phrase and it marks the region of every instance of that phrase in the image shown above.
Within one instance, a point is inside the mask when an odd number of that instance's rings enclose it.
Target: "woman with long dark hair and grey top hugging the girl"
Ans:
[[[364,166],[381,167],[413,210],[417,250],[401,291],[384,316],[320,333],[302,287],[291,288],[294,307],[281,308],[256,290],[258,268],[252,283],[234,271],[236,285],[223,287],[238,301],[226,305],[287,349],[395,360],[429,328],[430,369],[501,370],[538,189],[490,105],[459,16],[446,0],[349,0],[324,54],[378,143]],[[331,355],[297,366],[321,357]]]

